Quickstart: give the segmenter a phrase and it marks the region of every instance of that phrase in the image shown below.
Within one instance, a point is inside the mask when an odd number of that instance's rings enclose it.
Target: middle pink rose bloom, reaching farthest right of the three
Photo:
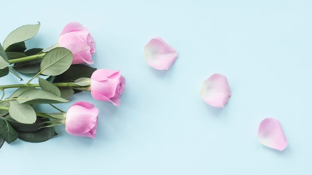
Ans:
[[[111,101],[120,106],[120,94],[123,93],[126,80],[119,71],[107,69],[96,70],[91,76],[91,95],[96,100]]]

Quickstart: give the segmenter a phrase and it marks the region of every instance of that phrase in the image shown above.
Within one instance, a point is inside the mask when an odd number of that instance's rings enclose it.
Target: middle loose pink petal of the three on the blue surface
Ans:
[[[231,90],[224,75],[213,74],[203,82],[199,94],[207,104],[214,107],[224,107],[231,97]]]

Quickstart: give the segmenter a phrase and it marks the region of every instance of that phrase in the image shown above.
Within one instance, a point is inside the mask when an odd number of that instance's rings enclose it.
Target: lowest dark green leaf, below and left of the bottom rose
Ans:
[[[56,135],[57,133],[55,132],[53,127],[41,128],[39,131],[36,132],[18,132],[19,139],[33,143],[47,141]]]

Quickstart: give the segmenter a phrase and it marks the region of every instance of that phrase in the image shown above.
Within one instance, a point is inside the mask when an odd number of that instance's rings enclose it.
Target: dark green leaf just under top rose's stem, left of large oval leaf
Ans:
[[[13,69],[23,74],[36,74],[40,70],[41,60],[31,60],[15,63]]]

